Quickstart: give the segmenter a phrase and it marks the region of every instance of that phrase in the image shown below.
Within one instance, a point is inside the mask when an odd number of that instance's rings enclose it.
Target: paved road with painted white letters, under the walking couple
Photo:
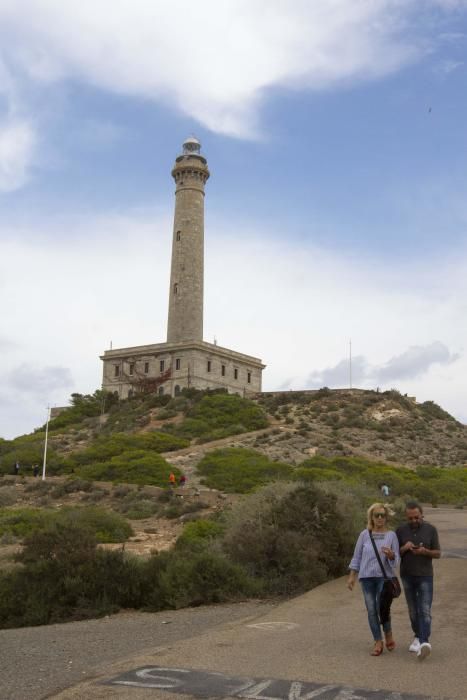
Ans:
[[[51,628],[41,628],[45,638],[39,634],[36,646],[29,635],[37,628],[2,632],[2,646],[16,640],[9,654],[1,652],[2,676],[6,659],[11,688],[13,664],[21,659],[16,677],[23,683],[26,675],[28,682],[16,694],[1,695],[1,700],[466,700],[467,512],[439,508],[426,515],[439,527],[443,548],[451,556],[435,562],[433,655],[424,663],[407,651],[411,633],[403,598],[394,604],[396,650],[371,658],[361,595],[348,592],[345,580],[339,579],[277,606],[158,613],[139,627],[134,622],[138,615],[55,626],[53,652],[45,639]],[[198,616],[206,616],[204,623],[196,622]],[[162,626],[164,619],[173,622]],[[180,628],[172,627],[179,622]],[[141,629],[147,629],[147,636],[132,641]],[[76,655],[67,658],[66,649]],[[68,670],[67,660],[73,662],[73,670]],[[23,671],[28,661],[31,670]],[[81,666],[86,680],[54,694],[53,688],[76,683]],[[49,669],[47,676],[40,669]],[[47,682],[35,684],[35,677],[46,677]]]

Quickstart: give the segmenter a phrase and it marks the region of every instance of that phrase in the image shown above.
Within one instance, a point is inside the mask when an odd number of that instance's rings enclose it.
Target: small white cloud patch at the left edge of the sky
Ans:
[[[36,147],[33,127],[26,121],[0,123],[0,191],[22,187],[30,176]]]

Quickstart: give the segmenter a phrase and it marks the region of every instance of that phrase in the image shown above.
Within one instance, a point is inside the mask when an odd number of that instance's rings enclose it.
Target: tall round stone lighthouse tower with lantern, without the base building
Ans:
[[[194,137],[175,160],[175,214],[167,342],[203,340],[204,185],[209,170]]]

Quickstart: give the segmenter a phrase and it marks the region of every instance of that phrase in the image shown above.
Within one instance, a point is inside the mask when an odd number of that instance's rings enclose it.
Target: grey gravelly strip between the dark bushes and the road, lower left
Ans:
[[[161,613],[0,631],[0,700],[41,700],[115,662],[272,610],[271,603],[210,605]],[[84,696],[83,696],[84,697]]]

